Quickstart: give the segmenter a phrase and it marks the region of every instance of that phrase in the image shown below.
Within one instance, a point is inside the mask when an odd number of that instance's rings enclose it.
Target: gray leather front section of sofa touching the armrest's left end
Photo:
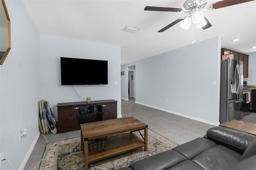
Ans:
[[[176,150],[180,154],[184,155],[188,160],[191,160],[195,156],[201,154],[208,148],[216,146],[217,144],[207,138],[196,138],[185,144],[176,146],[172,150]]]

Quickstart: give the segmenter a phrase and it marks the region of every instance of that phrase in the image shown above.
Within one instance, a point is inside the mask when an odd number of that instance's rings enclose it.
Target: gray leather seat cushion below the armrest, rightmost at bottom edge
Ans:
[[[232,165],[239,162],[241,156],[241,154],[225,146],[217,145],[202,152],[192,161],[204,170],[228,170]]]

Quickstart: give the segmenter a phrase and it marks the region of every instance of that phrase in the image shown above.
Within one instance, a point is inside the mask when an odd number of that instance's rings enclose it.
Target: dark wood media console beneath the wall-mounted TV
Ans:
[[[117,118],[116,100],[58,103],[58,133],[79,130],[80,124]]]

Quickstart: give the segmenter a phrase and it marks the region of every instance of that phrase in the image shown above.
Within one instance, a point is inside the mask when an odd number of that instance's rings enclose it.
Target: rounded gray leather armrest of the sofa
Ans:
[[[206,135],[208,139],[240,154],[243,154],[248,145],[255,139],[252,134],[224,126],[210,128],[207,130]]]

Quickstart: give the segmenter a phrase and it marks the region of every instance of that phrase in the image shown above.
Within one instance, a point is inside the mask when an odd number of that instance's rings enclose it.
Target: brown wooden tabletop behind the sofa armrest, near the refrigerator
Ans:
[[[248,123],[248,122],[243,122],[240,120],[230,120],[228,122],[224,122],[220,124],[220,126],[225,126],[228,128],[240,130],[249,134],[256,135],[256,124],[254,123]]]

